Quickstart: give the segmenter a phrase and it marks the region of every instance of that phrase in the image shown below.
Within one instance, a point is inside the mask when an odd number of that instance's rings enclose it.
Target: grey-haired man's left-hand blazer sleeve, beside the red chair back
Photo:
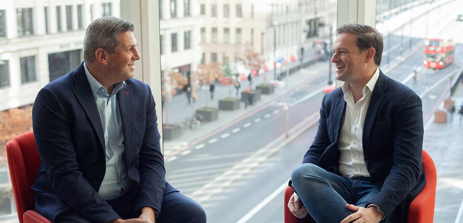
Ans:
[[[32,127],[42,165],[57,196],[92,222],[106,223],[119,218],[79,171],[71,123],[62,103],[49,88],[42,88],[37,95]]]

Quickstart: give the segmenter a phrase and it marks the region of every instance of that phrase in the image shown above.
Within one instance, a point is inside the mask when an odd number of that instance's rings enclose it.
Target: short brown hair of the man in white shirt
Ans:
[[[378,67],[379,65],[381,65],[383,38],[380,32],[378,32],[375,28],[369,25],[354,23],[339,26],[336,29],[336,35],[339,35],[341,33],[352,33],[356,35],[354,41],[355,45],[360,50],[360,53],[362,53],[364,50],[370,47],[375,48],[375,64]]]

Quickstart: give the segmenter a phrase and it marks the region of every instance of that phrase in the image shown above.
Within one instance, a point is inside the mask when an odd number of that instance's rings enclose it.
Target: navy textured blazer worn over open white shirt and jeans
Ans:
[[[346,105],[341,87],[325,95],[317,134],[302,163],[342,175],[338,169],[338,142]],[[421,160],[423,133],[419,96],[380,70],[362,134],[370,180],[380,189],[369,204],[378,205],[386,216],[397,209],[404,222],[408,206],[426,183]]]

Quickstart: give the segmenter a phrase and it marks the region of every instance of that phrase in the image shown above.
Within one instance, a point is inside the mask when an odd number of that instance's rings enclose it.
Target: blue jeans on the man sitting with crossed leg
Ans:
[[[346,204],[365,207],[378,188],[369,178],[350,179],[311,163],[301,164],[291,174],[293,189],[310,216],[318,223],[339,223],[353,214]],[[390,222],[391,217],[387,217]]]

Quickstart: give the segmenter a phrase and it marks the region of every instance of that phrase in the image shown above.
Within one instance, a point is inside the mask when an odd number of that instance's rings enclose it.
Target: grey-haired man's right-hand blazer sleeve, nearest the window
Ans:
[[[140,188],[135,200],[135,210],[148,206],[161,211],[166,187],[166,170],[157,129],[155,102],[148,86],[145,134],[140,148]]]

